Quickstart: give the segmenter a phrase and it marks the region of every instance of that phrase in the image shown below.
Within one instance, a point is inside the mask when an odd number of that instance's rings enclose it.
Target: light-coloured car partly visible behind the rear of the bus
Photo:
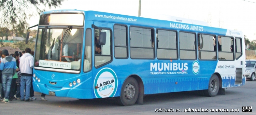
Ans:
[[[251,81],[254,81],[256,73],[256,60],[245,60],[245,62],[245,77]]]

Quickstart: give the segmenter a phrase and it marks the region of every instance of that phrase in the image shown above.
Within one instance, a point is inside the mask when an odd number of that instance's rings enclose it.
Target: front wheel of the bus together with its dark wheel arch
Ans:
[[[125,79],[121,87],[118,101],[119,104],[123,106],[130,106],[134,103],[143,104],[143,95],[144,84],[141,78],[138,75],[130,75]]]

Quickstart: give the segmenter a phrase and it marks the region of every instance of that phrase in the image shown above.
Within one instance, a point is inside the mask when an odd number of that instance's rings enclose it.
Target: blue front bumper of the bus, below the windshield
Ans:
[[[57,97],[71,97],[77,99],[91,99],[91,89],[78,89],[71,87],[53,87],[45,84],[33,82],[35,92],[40,92],[49,95],[49,92],[54,92]],[[51,93],[53,94],[53,93]]]

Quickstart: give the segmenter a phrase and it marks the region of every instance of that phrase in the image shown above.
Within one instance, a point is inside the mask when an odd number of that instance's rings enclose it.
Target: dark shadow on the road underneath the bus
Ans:
[[[226,95],[237,94],[235,91],[226,91]],[[217,95],[222,96],[222,95]],[[167,102],[180,102],[184,100],[192,101],[198,98],[208,98],[201,94],[201,91],[187,91],[187,92],[174,92],[174,93],[162,93],[162,94],[151,94],[145,95],[143,99],[144,105],[150,104],[163,104]],[[53,99],[53,100],[52,100]],[[95,109],[103,107],[117,107],[118,98],[101,98],[101,99],[74,99],[74,98],[62,98],[52,97],[50,100],[43,101],[41,104],[53,104],[61,107],[72,107],[74,109]],[[135,104],[135,106],[138,104]]]

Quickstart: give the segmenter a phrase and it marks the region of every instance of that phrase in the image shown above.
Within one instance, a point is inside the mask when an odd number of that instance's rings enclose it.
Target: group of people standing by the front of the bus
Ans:
[[[26,48],[25,51],[9,54],[4,49],[0,53],[0,100],[4,103],[17,99],[26,102],[36,100],[32,85],[34,51]],[[42,94],[41,99],[47,101],[44,97],[45,94]]]

